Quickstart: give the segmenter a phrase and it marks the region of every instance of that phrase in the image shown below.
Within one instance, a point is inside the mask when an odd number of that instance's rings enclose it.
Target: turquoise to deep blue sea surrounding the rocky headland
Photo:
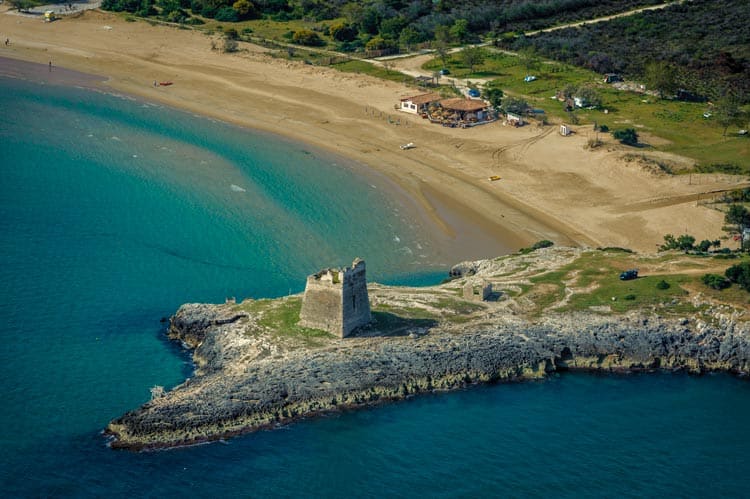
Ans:
[[[110,419],[190,375],[162,317],[189,301],[298,292],[306,274],[356,256],[389,283],[434,283],[453,263],[408,199],[362,165],[0,76],[0,495],[749,494],[750,384],[723,375],[565,375],[224,444],[106,447]]]

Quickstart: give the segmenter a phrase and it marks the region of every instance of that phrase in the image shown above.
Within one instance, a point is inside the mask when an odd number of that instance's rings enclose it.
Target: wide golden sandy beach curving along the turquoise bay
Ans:
[[[652,252],[666,233],[719,238],[722,214],[698,201],[747,185],[739,177],[655,173],[624,160],[633,151],[615,142],[586,150],[590,127],[562,137],[555,126],[431,125],[394,110],[419,89],[275,59],[245,43],[224,54],[211,48],[219,37],[196,31],[100,11],[43,23],[7,10],[0,7],[0,37],[11,43],[0,46],[0,57],[52,62],[50,79],[62,78],[62,68],[101,75],[96,85],[113,91],[364,163],[425,209],[457,258],[490,257],[539,239]],[[153,85],[166,80],[174,84]],[[416,148],[401,150],[408,142]]]

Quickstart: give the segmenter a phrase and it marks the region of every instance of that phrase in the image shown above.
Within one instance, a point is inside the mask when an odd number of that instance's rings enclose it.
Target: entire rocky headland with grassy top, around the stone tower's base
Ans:
[[[620,281],[618,270],[640,266]],[[336,338],[298,324],[299,295],[187,304],[168,335],[195,374],[110,422],[113,448],[191,445],[316,414],[563,370],[750,369],[747,292],[702,273],[726,261],[547,248],[464,262],[427,288],[368,286],[373,322]],[[667,283],[667,287],[660,282]],[[465,290],[492,284],[486,299]],[[481,296],[481,295],[480,295]]]

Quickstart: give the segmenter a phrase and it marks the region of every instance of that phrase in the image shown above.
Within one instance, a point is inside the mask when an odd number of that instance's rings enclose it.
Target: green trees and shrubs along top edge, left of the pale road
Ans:
[[[661,0],[104,0],[102,7],[181,23],[207,18],[305,20],[321,23],[320,34],[340,50],[396,50],[434,40],[436,32],[439,38],[441,29],[451,42],[465,43],[480,35],[547,27],[657,3]],[[313,45],[319,43],[314,40]]]

